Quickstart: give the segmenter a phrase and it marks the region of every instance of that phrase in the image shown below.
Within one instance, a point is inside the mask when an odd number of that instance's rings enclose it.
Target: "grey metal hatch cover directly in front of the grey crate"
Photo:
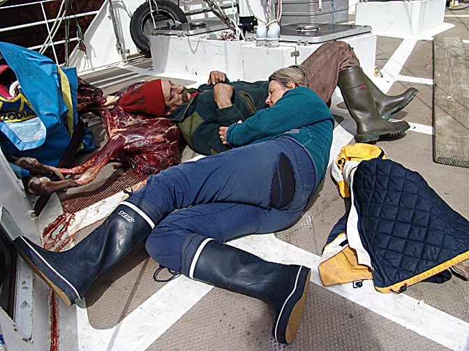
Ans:
[[[281,26],[280,41],[286,42],[326,42],[348,36],[371,32],[371,26],[332,23],[297,23]]]

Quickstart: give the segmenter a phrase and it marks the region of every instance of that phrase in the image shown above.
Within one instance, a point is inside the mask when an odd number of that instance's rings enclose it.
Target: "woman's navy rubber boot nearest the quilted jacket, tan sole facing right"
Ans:
[[[200,235],[187,237],[182,252],[184,275],[266,302],[275,315],[272,335],[276,341],[293,341],[306,302],[308,267],[267,262]]]

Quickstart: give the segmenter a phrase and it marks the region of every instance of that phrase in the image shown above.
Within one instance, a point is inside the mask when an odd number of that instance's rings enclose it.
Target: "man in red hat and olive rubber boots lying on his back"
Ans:
[[[407,122],[393,123],[388,119],[415,98],[417,89],[409,88],[397,96],[385,95],[366,77],[346,42],[326,42],[301,65],[308,74],[308,88],[327,106],[330,107],[336,86],[341,88],[348,111],[357,123],[357,142],[375,141],[408,130]],[[230,148],[218,137],[219,127],[244,121],[265,109],[268,85],[268,81],[229,82],[218,71],[211,72],[207,84],[198,89],[175,85],[168,79],[155,79],[124,95],[121,106],[128,112],[169,116],[178,123],[188,146],[202,155],[214,155]],[[224,100],[224,104],[219,104],[217,99]]]

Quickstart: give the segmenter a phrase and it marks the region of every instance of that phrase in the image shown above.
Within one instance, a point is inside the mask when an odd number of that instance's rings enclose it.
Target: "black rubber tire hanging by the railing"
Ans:
[[[184,11],[177,4],[168,0],[157,0],[158,11],[153,6],[153,16],[155,19],[156,29],[170,24],[187,23],[187,17]],[[148,2],[142,3],[132,15],[131,18],[131,37],[135,45],[145,55],[150,54],[149,35],[154,29],[150,15],[150,7]]]

